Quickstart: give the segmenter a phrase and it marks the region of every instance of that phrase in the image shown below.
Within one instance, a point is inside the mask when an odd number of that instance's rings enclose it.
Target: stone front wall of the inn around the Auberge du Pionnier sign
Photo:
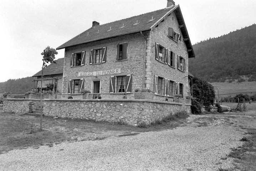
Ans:
[[[146,32],[144,32],[144,35]],[[85,79],[84,89],[93,93],[93,81],[100,81],[100,93],[109,93],[109,84],[111,76],[132,75],[132,92],[134,89],[143,86],[144,70],[144,42],[145,39],[140,33],[109,38],[107,40],[85,43],[82,45],[65,48],[64,70],[62,93],[68,93],[69,79]],[[117,61],[118,43],[128,43],[127,59]],[[94,48],[107,47],[107,59],[105,63],[89,64],[90,50]],[[70,67],[71,54],[75,52],[86,51],[85,65]],[[78,77],[78,72],[105,71],[109,69],[121,68],[121,74],[112,74],[105,76]],[[114,96],[115,97],[115,96]]]

